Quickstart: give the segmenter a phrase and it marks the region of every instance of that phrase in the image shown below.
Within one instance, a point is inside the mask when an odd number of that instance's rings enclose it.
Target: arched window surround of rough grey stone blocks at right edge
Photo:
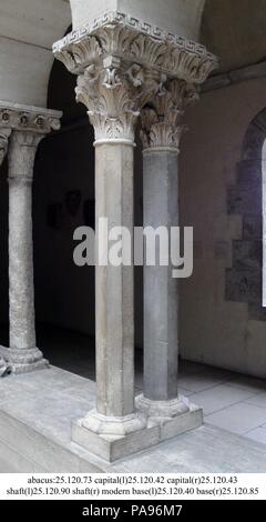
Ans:
[[[228,189],[228,213],[242,215],[242,238],[233,240],[233,264],[226,271],[226,299],[248,304],[249,319],[265,321],[263,308],[263,149],[266,108],[250,122]]]

